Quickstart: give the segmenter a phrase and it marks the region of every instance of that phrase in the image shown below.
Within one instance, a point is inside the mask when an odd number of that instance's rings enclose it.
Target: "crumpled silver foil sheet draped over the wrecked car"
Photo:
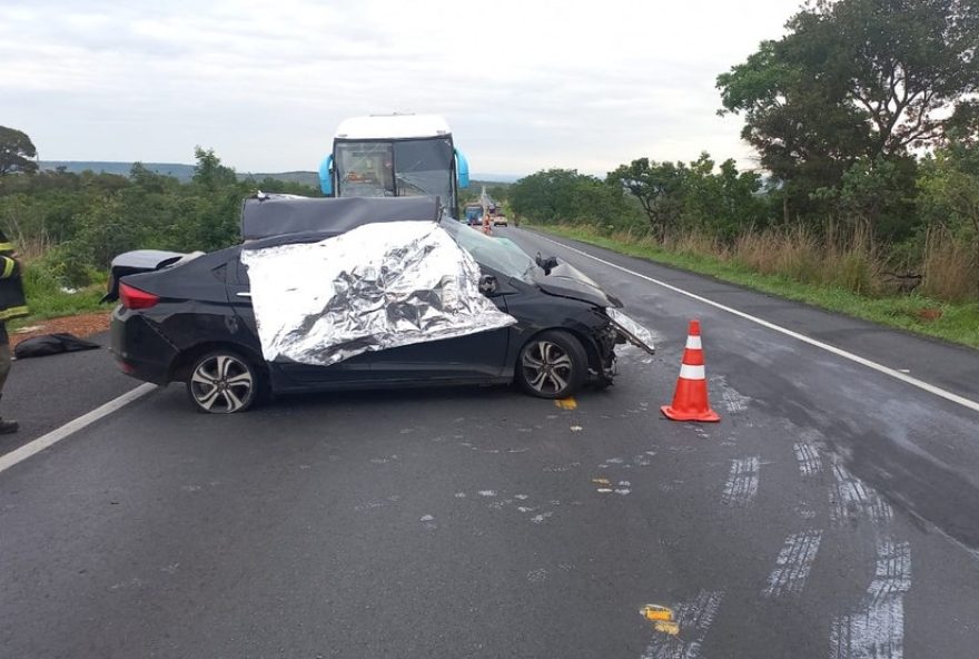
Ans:
[[[368,351],[516,323],[479,266],[429,222],[367,224],[319,243],[241,250],[266,361],[327,366]]]

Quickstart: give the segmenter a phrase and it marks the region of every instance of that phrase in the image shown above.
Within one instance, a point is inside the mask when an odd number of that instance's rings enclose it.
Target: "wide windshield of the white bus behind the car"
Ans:
[[[437,195],[454,203],[448,138],[337,140],[335,161],[339,197]]]

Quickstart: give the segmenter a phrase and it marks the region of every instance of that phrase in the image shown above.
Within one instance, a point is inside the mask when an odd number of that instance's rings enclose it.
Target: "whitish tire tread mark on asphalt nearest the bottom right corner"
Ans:
[[[910,544],[880,540],[877,569],[858,610],[833,618],[831,659],[902,659],[904,593],[910,589]]]

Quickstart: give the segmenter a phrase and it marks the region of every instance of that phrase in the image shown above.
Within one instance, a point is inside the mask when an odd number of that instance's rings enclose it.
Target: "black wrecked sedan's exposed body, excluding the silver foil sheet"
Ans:
[[[368,352],[329,366],[267,362],[241,246],[202,255],[137,252],[113,264],[120,304],[112,315],[112,353],[134,377],[185,382],[194,405],[211,413],[240,412],[269,394],[290,392],[516,382],[532,395],[561,399],[586,384],[612,382],[615,344],[636,342],[622,324],[627,319],[609,311],[621,306],[617,301],[556,259],[535,260],[510,240],[453,220],[442,226],[478,263],[481,291],[516,325]],[[297,239],[325,235],[307,232]]]

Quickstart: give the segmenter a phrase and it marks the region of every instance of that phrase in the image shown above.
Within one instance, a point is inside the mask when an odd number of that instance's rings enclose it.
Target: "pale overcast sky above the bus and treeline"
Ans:
[[[337,124],[436,112],[476,173],[751,166],[714,80],[799,0],[2,0],[0,125],[44,160],[316,169]]]

